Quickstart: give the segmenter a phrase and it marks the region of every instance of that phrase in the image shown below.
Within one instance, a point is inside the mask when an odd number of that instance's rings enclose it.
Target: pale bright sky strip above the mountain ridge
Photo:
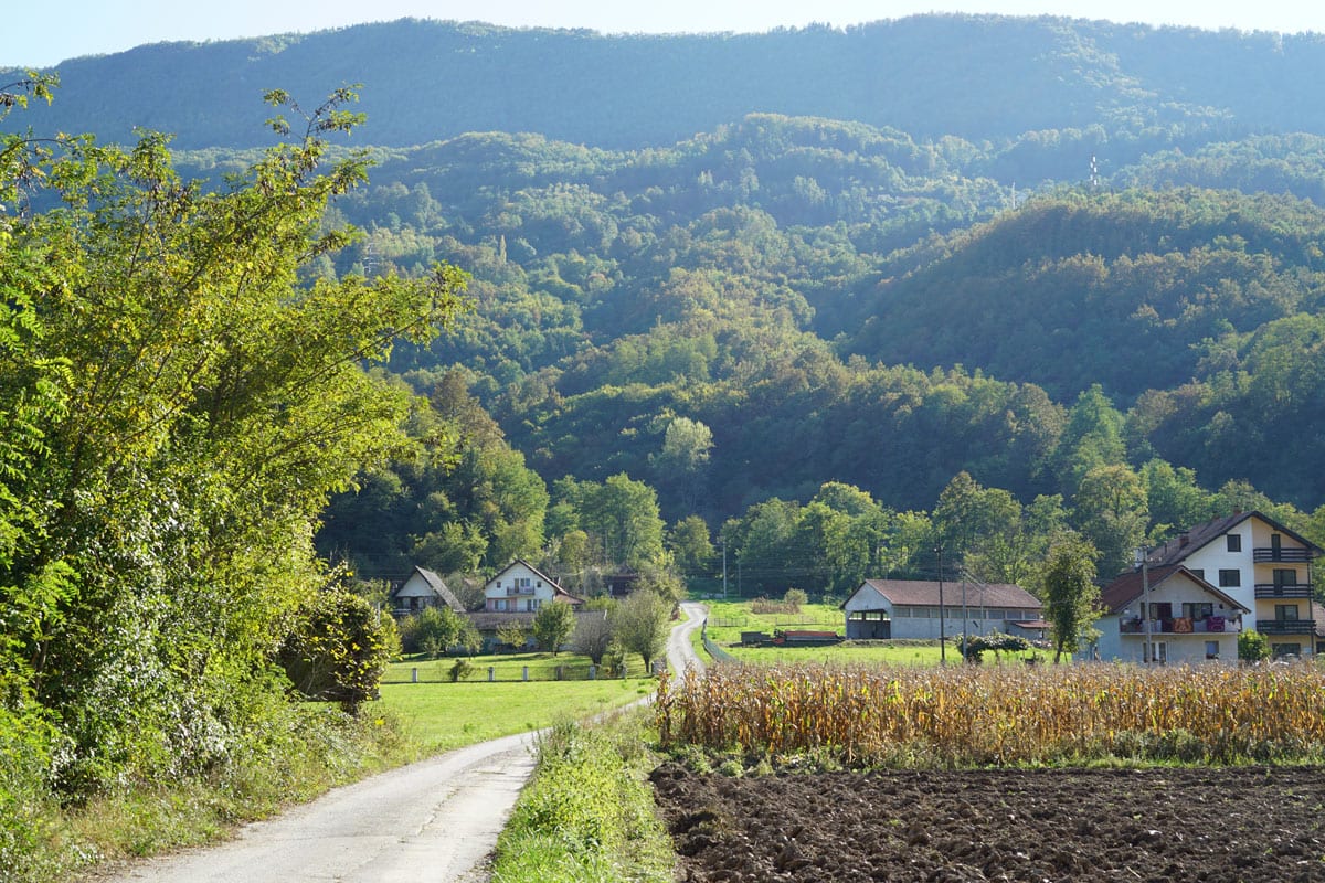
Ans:
[[[45,68],[162,41],[307,33],[370,21],[440,19],[604,33],[765,32],[811,23],[847,26],[926,12],[1055,15],[1206,29],[1325,33],[1313,0],[9,0],[0,12],[0,68]],[[0,83],[3,86],[3,83]]]

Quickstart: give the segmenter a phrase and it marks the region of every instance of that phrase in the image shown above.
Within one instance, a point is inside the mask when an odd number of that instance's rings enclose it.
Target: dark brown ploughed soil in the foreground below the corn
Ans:
[[[653,772],[685,880],[1325,882],[1325,770]]]

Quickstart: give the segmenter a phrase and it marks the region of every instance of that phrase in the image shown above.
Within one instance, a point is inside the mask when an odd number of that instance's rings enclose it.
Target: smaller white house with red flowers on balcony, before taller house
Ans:
[[[1100,600],[1093,654],[1105,662],[1236,659],[1238,635],[1251,616],[1251,608],[1181,564],[1126,573]]]

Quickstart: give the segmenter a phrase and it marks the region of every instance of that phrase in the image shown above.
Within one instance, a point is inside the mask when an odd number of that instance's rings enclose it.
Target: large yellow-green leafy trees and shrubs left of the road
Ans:
[[[68,800],[242,755],[326,580],[317,516],[405,413],[364,365],[460,311],[449,266],[301,279],[354,238],[323,225],[368,165],[325,162],[354,98],[273,93],[302,134],[211,191],[156,134],[0,136],[0,678],[60,731]]]

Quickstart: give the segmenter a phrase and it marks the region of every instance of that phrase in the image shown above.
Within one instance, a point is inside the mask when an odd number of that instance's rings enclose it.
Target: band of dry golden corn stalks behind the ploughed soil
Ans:
[[[656,714],[665,748],[864,765],[1318,761],[1325,671],[731,665],[665,679]]]

